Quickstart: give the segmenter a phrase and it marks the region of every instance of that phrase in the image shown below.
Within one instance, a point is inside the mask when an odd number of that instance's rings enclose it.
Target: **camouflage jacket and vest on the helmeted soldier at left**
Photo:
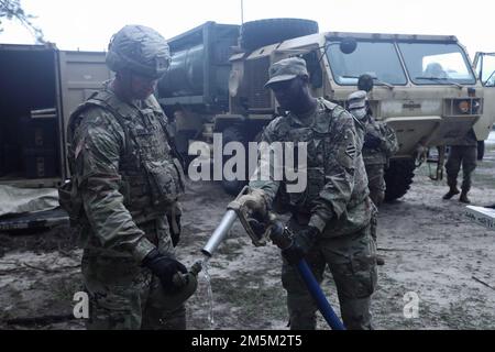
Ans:
[[[153,96],[125,103],[109,88],[72,114],[68,160],[84,248],[141,262],[158,245],[139,226],[165,217],[184,191],[166,123]]]

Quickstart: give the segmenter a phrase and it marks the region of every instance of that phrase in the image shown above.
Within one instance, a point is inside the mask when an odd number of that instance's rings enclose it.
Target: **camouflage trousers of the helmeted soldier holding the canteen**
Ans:
[[[146,237],[151,238],[148,232]],[[164,246],[167,243],[161,243],[158,249],[166,253]],[[186,329],[185,306],[164,309],[166,302],[160,301],[164,299],[160,295],[160,279],[132,257],[119,257],[107,254],[105,250],[86,249],[81,267],[90,300],[87,329]]]

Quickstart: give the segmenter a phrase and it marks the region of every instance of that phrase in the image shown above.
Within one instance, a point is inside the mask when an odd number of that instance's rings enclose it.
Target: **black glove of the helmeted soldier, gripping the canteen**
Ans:
[[[160,278],[164,290],[174,292],[173,278],[177,273],[187,273],[187,268],[183,263],[161,254],[156,249],[151,251],[143,260],[143,265],[148,267],[152,273]]]

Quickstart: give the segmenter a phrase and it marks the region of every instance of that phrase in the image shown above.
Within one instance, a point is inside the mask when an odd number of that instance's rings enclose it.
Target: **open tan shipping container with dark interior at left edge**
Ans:
[[[67,177],[65,125],[111,77],[105,53],[0,44],[0,185],[61,185]]]

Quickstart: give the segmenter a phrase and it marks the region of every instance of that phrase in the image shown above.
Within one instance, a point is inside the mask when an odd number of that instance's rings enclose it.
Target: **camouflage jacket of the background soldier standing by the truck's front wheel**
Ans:
[[[385,165],[388,158],[397,153],[398,142],[395,131],[385,122],[376,121],[370,117],[366,123],[366,134],[371,134],[380,140],[380,145],[370,148],[363,147],[363,160],[365,165]]]

